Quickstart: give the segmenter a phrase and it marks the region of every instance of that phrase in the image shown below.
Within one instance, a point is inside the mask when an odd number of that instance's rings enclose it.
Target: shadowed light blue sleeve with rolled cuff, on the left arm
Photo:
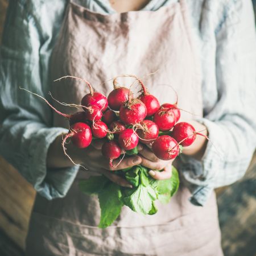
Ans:
[[[49,145],[67,130],[52,127],[51,109],[19,86],[47,98],[49,56],[64,3],[10,1],[0,53],[0,154],[47,199],[65,196],[77,167],[47,168]]]

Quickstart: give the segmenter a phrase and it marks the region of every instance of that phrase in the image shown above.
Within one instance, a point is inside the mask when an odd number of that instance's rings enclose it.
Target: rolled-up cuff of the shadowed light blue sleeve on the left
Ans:
[[[28,181],[34,185],[34,188],[40,195],[46,197],[48,200],[56,197],[64,197],[68,189],[71,187],[73,180],[76,177],[79,166],[70,168],[47,168],[47,152],[50,144],[57,136],[67,133],[67,129],[63,128],[46,128],[40,129],[36,133],[37,139],[32,139],[29,148],[28,167],[29,178]]]

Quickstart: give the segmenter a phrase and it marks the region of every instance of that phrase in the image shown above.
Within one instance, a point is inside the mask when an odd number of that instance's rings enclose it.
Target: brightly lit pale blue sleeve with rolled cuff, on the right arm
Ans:
[[[201,161],[181,156],[181,172],[195,205],[204,205],[214,188],[240,179],[256,146],[253,7],[250,0],[233,2],[215,31],[218,100],[198,119],[207,126],[210,141]]]

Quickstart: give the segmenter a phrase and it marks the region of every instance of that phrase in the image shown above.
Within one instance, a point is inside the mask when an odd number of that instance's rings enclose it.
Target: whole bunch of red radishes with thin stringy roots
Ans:
[[[90,88],[90,93],[81,100],[84,111],[73,115],[58,112],[70,123],[63,145],[69,137],[79,148],[88,147],[93,138],[106,138],[102,155],[109,159],[110,165],[114,159],[134,150],[139,142],[151,144],[159,159],[175,159],[180,148],[191,145],[199,133],[187,122],[177,123],[180,118],[177,102],[160,105],[158,99],[147,92],[141,79],[125,76],[139,82],[142,87],[139,96],[133,97],[129,88],[118,86],[117,77],[108,97],[94,92],[90,83],[84,80]]]

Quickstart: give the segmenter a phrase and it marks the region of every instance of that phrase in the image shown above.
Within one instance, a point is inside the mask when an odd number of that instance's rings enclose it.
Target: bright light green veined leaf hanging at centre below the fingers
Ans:
[[[127,196],[123,197],[123,201],[127,207],[134,212],[147,214],[152,208],[152,201],[156,199],[156,193],[151,186],[144,187],[142,184],[138,188],[127,191]]]

